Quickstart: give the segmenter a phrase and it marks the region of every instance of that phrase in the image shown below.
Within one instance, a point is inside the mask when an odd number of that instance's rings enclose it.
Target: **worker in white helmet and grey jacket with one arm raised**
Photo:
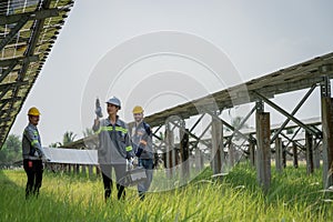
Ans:
[[[118,115],[121,109],[120,100],[113,97],[107,101],[107,105],[109,115],[100,120],[100,109],[97,109],[97,119],[92,128],[99,134],[100,140],[98,160],[102,170],[105,202],[112,191],[112,168],[115,172],[118,200],[124,198],[127,159],[131,160],[133,157],[128,127]]]

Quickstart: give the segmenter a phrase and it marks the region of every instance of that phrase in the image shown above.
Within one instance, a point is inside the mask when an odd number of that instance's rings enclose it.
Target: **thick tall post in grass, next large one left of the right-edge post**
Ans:
[[[256,112],[256,178],[266,193],[271,184],[271,131],[270,113]]]

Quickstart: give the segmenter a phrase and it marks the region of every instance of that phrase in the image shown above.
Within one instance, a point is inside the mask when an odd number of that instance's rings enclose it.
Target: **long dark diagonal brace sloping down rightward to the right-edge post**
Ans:
[[[266,104],[269,104],[271,108],[273,108],[274,110],[279,111],[281,114],[285,115],[286,118],[291,119],[293,122],[295,122],[297,125],[302,127],[304,130],[306,130],[307,132],[316,135],[317,138],[322,137],[322,132],[319,132],[317,129],[313,129],[306,124],[304,124],[302,121],[300,121],[299,119],[296,119],[295,117],[293,117],[292,114],[287,113],[285,110],[283,110],[282,108],[280,108],[278,104],[275,104],[274,102],[272,102],[271,100],[266,99],[264,95],[260,94],[259,92],[253,91],[253,93],[259,97],[260,99],[262,99]]]

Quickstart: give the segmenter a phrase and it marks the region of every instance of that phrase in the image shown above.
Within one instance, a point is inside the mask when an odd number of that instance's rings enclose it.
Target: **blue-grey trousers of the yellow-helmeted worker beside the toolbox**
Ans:
[[[141,200],[144,200],[144,193],[149,190],[152,174],[153,174],[153,160],[152,159],[139,159],[139,167],[145,169],[147,180],[138,184],[138,192]]]

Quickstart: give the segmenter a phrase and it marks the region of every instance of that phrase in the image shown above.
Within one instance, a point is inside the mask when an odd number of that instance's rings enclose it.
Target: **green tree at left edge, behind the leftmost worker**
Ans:
[[[21,139],[19,135],[9,134],[0,150],[0,162],[10,163],[22,160]]]

